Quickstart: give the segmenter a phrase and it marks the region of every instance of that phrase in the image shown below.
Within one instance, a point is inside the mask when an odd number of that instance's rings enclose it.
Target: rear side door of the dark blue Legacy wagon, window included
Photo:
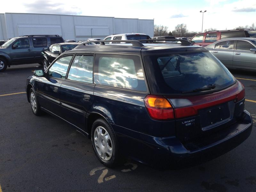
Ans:
[[[93,102],[93,57],[92,54],[76,54],[60,87],[61,111],[65,119],[83,130],[85,115]]]

